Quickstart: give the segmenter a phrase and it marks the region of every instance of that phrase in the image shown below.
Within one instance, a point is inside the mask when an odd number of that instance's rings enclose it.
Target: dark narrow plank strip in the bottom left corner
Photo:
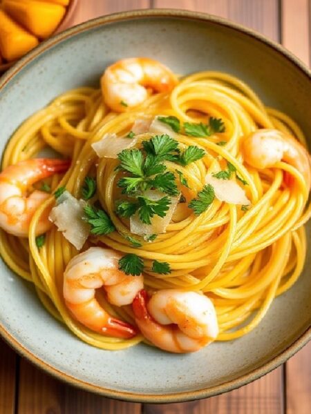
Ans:
[[[0,339],[0,413],[15,413],[17,355]]]

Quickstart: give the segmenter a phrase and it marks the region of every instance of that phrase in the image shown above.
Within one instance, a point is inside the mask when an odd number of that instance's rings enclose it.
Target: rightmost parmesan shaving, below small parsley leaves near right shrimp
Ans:
[[[218,179],[210,174],[205,177],[206,184],[214,188],[215,197],[229,204],[243,204],[249,206],[250,201],[245,191],[232,179]]]

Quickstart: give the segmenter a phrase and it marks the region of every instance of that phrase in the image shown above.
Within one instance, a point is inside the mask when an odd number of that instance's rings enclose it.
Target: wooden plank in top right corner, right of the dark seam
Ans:
[[[310,63],[309,5],[308,0],[281,1],[282,44],[307,64]]]

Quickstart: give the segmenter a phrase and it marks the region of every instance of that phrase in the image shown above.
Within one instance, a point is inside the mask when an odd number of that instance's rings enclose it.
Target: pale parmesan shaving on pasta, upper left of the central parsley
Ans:
[[[119,138],[115,134],[105,134],[100,141],[91,146],[100,158],[117,158],[122,150],[131,148],[135,144],[135,138]]]

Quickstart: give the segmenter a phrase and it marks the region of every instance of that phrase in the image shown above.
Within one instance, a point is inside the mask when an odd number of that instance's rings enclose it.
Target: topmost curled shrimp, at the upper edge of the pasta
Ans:
[[[122,59],[106,68],[101,85],[104,101],[115,112],[138,106],[149,93],[169,92],[177,84],[177,78],[162,63],[147,57]]]

